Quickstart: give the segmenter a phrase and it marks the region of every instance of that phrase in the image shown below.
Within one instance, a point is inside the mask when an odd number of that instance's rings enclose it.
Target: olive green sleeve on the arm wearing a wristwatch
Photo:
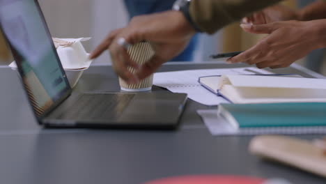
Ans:
[[[189,14],[201,31],[212,34],[223,26],[281,0],[192,0]]]

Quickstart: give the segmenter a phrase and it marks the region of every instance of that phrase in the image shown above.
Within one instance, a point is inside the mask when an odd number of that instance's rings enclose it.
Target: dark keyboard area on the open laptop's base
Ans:
[[[94,120],[117,118],[134,94],[83,94],[60,119]]]

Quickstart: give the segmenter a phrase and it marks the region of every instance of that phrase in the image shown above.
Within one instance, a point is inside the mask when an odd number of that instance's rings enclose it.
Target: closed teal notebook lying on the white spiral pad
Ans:
[[[219,108],[219,114],[228,121],[233,116],[239,128],[326,126],[326,102],[222,104]]]

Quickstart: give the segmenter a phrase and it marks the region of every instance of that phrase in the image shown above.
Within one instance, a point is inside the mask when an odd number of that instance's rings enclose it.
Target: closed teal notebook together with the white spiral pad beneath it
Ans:
[[[325,102],[221,104],[197,112],[212,135],[326,133]]]

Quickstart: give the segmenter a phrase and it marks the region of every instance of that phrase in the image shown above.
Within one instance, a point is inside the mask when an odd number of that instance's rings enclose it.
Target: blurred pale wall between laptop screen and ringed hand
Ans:
[[[127,24],[121,0],[39,0],[52,36],[59,38],[92,37],[84,43],[91,52],[109,31]],[[98,63],[110,62],[104,53]]]

